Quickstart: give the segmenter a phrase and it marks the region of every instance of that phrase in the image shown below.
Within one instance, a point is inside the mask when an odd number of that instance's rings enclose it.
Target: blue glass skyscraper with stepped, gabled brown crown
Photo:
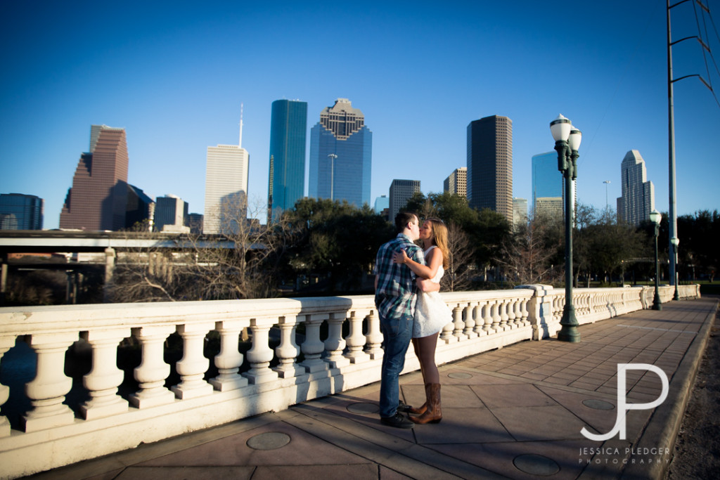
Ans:
[[[337,99],[310,130],[309,195],[369,204],[371,164],[372,132],[364,115],[350,100]]]

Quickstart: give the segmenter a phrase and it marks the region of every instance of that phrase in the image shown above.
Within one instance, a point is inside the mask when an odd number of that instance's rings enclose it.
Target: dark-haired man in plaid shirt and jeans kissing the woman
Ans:
[[[397,428],[413,428],[397,412],[400,401],[400,372],[405,366],[405,353],[413,336],[415,314],[415,273],[405,265],[393,263],[392,254],[402,250],[414,261],[425,265],[423,250],[415,245],[420,237],[418,216],[400,212],[395,216],[397,237],[377,250],[375,259],[375,306],[380,317],[380,330],[384,340],[382,373],[380,376],[380,422]],[[428,282],[427,289],[439,289]],[[426,290],[426,288],[423,288]]]

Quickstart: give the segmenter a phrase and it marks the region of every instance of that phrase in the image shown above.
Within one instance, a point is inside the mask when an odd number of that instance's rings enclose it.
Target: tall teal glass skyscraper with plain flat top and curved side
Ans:
[[[273,217],[305,194],[306,130],[307,102],[272,102],[268,212]]]

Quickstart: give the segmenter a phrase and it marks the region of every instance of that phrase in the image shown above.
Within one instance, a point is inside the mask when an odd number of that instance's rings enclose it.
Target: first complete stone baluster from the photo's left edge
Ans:
[[[37,368],[35,379],[25,385],[33,407],[22,417],[26,432],[75,421],[75,414],[63,402],[73,386],[73,379],[65,375],[65,353],[78,338],[78,332],[27,335],[25,341],[37,354]]]

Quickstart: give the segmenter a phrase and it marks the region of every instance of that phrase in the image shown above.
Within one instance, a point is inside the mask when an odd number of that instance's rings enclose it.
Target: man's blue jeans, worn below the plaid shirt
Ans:
[[[400,399],[400,372],[405,367],[405,353],[413,336],[413,316],[385,319],[380,316],[384,339],[382,372],[380,373],[380,417],[392,417]]]

